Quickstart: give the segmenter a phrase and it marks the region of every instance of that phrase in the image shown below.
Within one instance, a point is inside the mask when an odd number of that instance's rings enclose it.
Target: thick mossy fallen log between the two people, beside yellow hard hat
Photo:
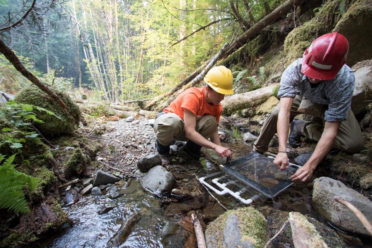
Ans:
[[[245,93],[235,94],[222,100],[222,115],[232,114],[234,111],[257,106],[266,101],[275,88],[275,84]]]

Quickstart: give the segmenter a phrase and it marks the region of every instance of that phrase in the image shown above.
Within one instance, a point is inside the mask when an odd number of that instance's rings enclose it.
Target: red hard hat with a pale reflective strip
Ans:
[[[302,57],[301,72],[318,80],[333,79],[346,62],[349,42],[337,32],[315,39]]]

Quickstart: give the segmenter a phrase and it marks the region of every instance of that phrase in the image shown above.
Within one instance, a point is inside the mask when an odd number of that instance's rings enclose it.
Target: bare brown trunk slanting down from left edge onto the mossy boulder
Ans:
[[[14,52],[2,41],[0,40],[0,52],[13,64],[14,68],[19,71],[25,78],[30,80],[33,84],[38,86],[42,91],[51,96],[62,108],[62,110],[67,113],[66,105],[62,100],[44,83],[42,83],[37,77],[35,77],[26,67],[22,64],[19,58],[14,54]]]

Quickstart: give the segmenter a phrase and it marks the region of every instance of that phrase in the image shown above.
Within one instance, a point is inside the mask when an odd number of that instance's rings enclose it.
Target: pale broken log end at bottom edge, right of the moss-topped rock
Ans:
[[[289,223],[291,223],[292,240],[295,248],[328,248],[315,226],[308,222],[301,213],[290,212]]]

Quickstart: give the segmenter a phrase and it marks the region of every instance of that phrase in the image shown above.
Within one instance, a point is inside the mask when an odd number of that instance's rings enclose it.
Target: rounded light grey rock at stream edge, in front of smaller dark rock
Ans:
[[[141,181],[145,188],[162,194],[171,191],[176,180],[165,168],[157,165],[151,168]]]

